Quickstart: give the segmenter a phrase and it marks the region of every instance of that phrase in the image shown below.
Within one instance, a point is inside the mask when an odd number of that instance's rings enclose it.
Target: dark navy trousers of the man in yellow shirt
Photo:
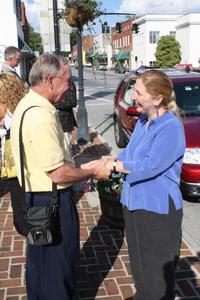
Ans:
[[[79,221],[72,188],[58,192],[62,241],[58,245],[27,247],[28,300],[71,300],[79,263]],[[49,203],[51,193],[31,193],[34,206]]]

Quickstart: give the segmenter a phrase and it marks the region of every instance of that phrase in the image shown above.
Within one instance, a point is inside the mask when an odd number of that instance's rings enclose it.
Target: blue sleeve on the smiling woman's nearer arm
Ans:
[[[185,136],[182,126],[167,126],[158,132],[145,159],[123,162],[124,169],[131,171],[126,180],[133,183],[153,178],[181,159],[184,152]]]

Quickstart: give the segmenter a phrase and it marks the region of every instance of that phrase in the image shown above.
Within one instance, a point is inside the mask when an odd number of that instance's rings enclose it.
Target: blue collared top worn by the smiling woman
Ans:
[[[179,184],[185,147],[183,125],[172,112],[150,122],[141,115],[129,144],[117,157],[130,171],[121,203],[129,210],[168,214],[170,195],[176,209],[182,208]]]

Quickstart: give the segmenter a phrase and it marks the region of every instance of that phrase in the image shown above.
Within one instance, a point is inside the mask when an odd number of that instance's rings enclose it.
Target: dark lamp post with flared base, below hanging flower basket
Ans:
[[[77,111],[78,123],[78,143],[84,144],[90,141],[88,132],[88,116],[84,100],[84,84],[83,84],[83,57],[82,57],[82,31],[77,30],[77,52],[78,52],[78,83],[79,83],[79,102]]]

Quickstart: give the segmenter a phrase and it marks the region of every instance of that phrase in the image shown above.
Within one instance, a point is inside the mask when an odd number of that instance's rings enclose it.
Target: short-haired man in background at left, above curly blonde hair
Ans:
[[[22,53],[20,49],[14,46],[7,47],[4,52],[5,62],[2,65],[1,72],[13,72],[18,75],[15,68],[19,65],[21,57]]]

